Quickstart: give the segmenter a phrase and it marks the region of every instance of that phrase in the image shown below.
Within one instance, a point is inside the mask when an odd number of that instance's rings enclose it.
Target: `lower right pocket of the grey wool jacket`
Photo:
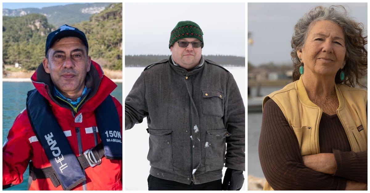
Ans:
[[[207,131],[204,144],[206,172],[223,168],[226,153],[226,137],[230,135],[226,129]]]

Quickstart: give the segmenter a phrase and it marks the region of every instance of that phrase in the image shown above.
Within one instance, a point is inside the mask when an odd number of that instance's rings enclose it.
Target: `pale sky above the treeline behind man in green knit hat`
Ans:
[[[245,3],[125,3],[125,55],[170,55],[171,30],[184,20],[201,27],[202,54],[245,56]]]

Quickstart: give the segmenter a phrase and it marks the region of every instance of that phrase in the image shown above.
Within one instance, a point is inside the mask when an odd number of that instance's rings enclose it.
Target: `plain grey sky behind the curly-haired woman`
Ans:
[[[292,63],[290,41],[299,18],[317,5],[336,4],[345,6],[367,30],[367,3],[248,3],[248,32],[253,38],[248,61],[253,65]]]

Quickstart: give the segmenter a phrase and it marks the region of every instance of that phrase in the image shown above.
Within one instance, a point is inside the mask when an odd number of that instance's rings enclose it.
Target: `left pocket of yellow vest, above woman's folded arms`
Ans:
[[[301,155],[311,155],[311,148],[310,148],[310,138],[311,138],[311,130],[312,127],[310,126],[303,126],[303,127],[294,127],[291,125],[294,131],[294,134],[297,137],[299,149]]]

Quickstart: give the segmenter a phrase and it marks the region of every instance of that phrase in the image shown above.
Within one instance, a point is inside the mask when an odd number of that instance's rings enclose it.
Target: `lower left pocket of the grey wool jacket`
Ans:
[[[172,165],[171,130],[149,130],[150,165],[164,170],[174,170]]]

